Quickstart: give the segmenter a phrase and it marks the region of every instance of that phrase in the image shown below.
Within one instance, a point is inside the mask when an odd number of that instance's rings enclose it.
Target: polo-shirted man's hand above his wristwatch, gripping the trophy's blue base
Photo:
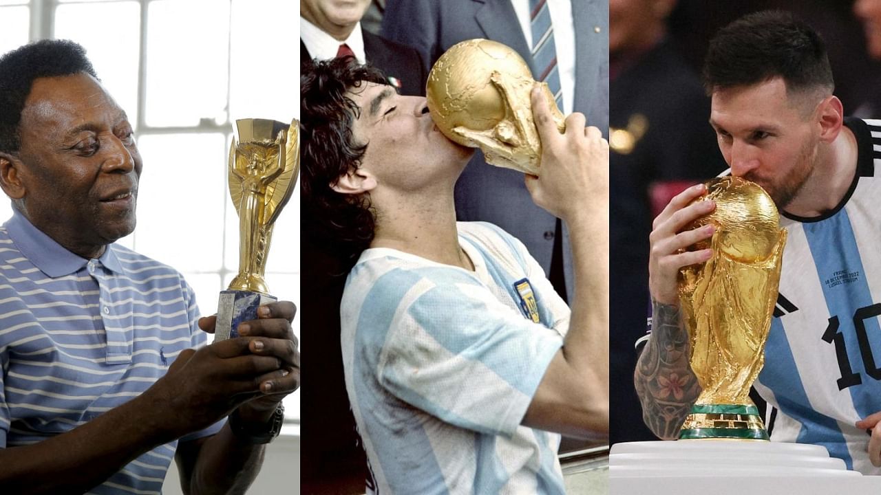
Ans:
[[[259,307],[257,319],[242,322],[238,328],[241,337],[231,339],[246,339],[250,354],[277,363],[276,367],[253,376],[252,383],[259,394],[241,405],[239,414],[242,419],[267,420],[285,395],[300,387],[300,351],[291,327],[296,312],[297,308],[290,301]],[[199,328],[213,333],[216,322],[217,316],[202,318]]]

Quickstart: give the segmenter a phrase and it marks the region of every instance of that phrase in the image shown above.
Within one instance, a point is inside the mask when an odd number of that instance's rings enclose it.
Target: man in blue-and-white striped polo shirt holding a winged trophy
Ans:
[[[4,492],[159,492],[174,455],[185,492],[243,493],[299,385],[291,303],[205,346],[215,320],[181,275],[114,243],[141,168],[77,44],[0,58]]]

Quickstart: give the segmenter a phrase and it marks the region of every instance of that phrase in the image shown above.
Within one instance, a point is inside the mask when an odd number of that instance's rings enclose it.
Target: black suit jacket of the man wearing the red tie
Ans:
[[[367,63],[385,72],[389,84],[399,81],[398,88],[405,96],[425,96],[428,71],[419,52],[408,46],[387,40],[374,33],[362,31],[364,35],[364,55]],[[312,63],[312,55],[300,41],[300,66]]]

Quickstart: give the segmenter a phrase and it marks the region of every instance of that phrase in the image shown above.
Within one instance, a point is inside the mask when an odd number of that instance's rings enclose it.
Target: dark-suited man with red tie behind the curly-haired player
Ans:
[[[300,61],[352,55],[385,72],[389,84],[407,96],[425,96],[427,71],[418,52],[361,29],[370,0],[300,1]]]

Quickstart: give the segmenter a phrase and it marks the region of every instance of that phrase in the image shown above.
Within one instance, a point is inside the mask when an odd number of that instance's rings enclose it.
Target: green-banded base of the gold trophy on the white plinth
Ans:
[[[769,440],[759,408],[752,404],[694,404],[679,440]]]

